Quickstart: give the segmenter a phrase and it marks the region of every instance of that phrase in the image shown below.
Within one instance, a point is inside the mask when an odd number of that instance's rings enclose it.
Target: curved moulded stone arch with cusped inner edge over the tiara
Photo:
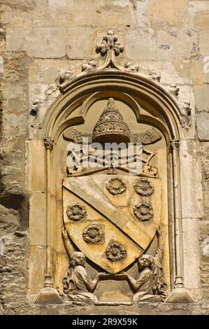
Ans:
[[[91,95],[88,99],[87,97]],[[138,73],[129,73],[118,69],[105,69],[83,73],[62,87],[62,94],[50,106],[43,124],[43,138],[53,139],[56,143],[59,135],[69,125],[82,124],[91,104],[104,97],[117,97],[127,102],[134,111],[136,120],[140,120],[140,104],[150,111],[158,112],[164,119],[161,131],[166,139],[180,139],[181,111],[177,99],[167,92],[160,83]],[[87,99],[87,100],[86,100]],[[86,102],[84,102],[86,101]],[[78,106],[82,105],[78,116],[68,119]],[[144,119],[145,120],[145,119]]]

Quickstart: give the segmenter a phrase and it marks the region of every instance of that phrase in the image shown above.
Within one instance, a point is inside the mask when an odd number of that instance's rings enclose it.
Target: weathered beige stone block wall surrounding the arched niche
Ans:
[[[55,83],[59,72],[69,68],[76,71],[87,59],[98,60],[96,44],[101,43],[103,34],[111,28],[125,46],[119,62],[137,63],[141,73],[152,69],[160,71],[161,84],[178,85],[179,102],[190,102],[192,106],[196,132],[191,139],[198,144],[203,186],[203,216],[196,218],[203,292],[198,303],[205,306],[190,304],[186,311],[182,305],[162,304],[157,306],[157,311],[161,314],[206,313],[209,300],[209,73],[203,70],[206,64],[203,59],[209,56],[209,1],[0,0],[0,4],[0,312],[19,314],[20,301],[21,312],[29,312],[30,196],[25,190],[25,140],[34,130],[29,114],[31,106],[34,100],[39,100],[37,129],[41,129],[48,104],[59,94]],[[50,305],[40,308],[30,304],[30,309],[33,314],[64,313],[62,306],[53,311]],[[74,307],[75,313],[78,309]],[[103,312],[99,308],[96,311]],[[150,309],[143,305],[140,311],[136,308],[131,311],[150,314]],[[82,312],[85,314],[85,307]]]

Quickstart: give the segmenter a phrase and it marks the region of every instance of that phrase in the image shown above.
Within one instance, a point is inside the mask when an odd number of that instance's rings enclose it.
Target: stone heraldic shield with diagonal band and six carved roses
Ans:
[[[154,238],[161,219],[161,180],[120,174],[64,179],[63,213],[76,248],[115,274]]]

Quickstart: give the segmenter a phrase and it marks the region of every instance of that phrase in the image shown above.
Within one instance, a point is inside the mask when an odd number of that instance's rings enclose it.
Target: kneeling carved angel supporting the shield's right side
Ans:
[[[117,277],[127,279],[131,289],[134,290],[133,302],[164,302],[166,299],[166,282],[161,265],[162,256],[163,248],[161,246],[157,248],[155,256],[142,255],[138,259],[139,276],[137,280],[126,272],[117,274]]]

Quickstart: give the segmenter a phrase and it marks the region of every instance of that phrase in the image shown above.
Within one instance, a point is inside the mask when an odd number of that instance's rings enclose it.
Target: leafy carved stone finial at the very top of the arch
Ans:
[[[111,49],[115,51],[116,56],[124,50],[123,45],[120,45],[117,41],[117,35],[114,34],[112,30],[108,31],[108,33],[103,36],[103,41],[101,44],[96,46],[96,52],[100,52],[101,56],[103,56],[108,50]]]

